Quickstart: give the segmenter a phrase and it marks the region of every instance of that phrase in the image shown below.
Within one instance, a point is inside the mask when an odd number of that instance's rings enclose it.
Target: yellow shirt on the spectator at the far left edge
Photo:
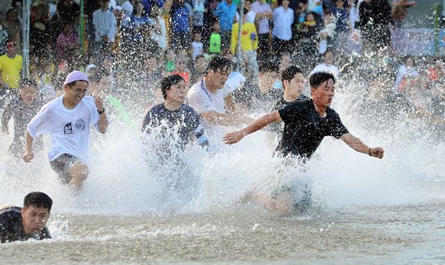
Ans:
[[[20,74],[22,72],[22,55],[15,55],[9,58],[7,54],[0,56],[0,74],[3,84],[8,84],[9,88],[18,88]]]

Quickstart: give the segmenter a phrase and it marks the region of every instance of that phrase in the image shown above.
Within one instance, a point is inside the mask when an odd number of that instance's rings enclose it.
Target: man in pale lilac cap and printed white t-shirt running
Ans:
[[[49,101],[40,109],[26,127],[23,160],[34,157],[33,139],[47,133],[51,135],[48,158],[51,167],[59,174],[59,180],[73,191],[80,191],[88,176],[88,150],[90,127],[100,133],[108,128],[102,100],[86,96],[88,78],[80,71],[72,71],[63,83],[64,94]]]

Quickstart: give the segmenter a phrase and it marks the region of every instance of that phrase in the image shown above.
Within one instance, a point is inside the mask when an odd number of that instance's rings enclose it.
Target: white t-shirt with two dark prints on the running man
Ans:
[[[35,138],[43,133],[51,135],[49,161],[68,153],[88,160],[90,149],[90,127],[97,129],[99,113],[92,96],[85,96],[72,110],[62,103],[63,96],[45,104],[40,112],[29,122],[27,130]]]

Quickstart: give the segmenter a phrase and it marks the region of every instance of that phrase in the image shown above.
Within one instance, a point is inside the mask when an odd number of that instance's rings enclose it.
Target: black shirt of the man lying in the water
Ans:
[[[50,239],[48,228],[45,227],[38,233],[26,234],[23,228],[21,207],[6,207],[0,210],[0,240],[1,243],[13,241],[25,241],[28,239]]]

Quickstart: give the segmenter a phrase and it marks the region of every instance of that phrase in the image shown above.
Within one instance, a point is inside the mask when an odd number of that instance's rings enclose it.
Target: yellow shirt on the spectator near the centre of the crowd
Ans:
[[[230,52],[232,52],[232,54],[235,54],[236,46],[238,45],[238,28],[238,22],[233,24],[232,43],[230,44]],[[241,50],[251,51],[256,49],[258,49],[257,28],[255,28],[253,23],[244,22],[243,25],[241,25]]]

